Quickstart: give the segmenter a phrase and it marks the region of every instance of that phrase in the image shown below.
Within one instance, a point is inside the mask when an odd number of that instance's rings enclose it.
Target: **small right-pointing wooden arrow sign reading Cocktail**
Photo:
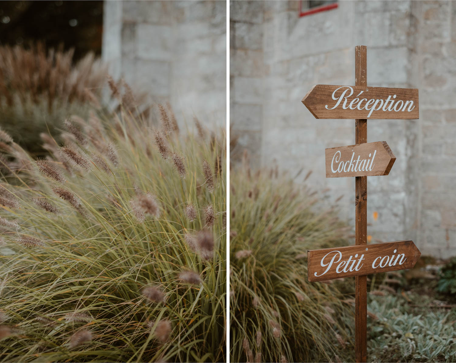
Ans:
[[[388,175],[396,157],[384,141],[325,149],[326,178]]]

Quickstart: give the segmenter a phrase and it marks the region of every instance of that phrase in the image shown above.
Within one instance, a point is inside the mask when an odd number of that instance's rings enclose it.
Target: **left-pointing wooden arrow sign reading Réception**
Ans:
[[[418,89],[316,84],[302,99],[315,118],[418,119]]]

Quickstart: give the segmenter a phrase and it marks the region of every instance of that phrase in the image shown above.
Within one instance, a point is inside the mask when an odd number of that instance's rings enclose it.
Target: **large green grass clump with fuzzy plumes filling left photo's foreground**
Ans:
[[[226,361],[225,137],[173,118],[72,118],[77,132],[43,137],[36,161],[11,142],[0,362]]]

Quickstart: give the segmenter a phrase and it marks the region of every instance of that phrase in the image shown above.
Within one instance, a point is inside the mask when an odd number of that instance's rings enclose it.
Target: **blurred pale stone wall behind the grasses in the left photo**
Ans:
[[[225,1],[105,1],[113,77],[171,102],[178,119],[226,122]]]

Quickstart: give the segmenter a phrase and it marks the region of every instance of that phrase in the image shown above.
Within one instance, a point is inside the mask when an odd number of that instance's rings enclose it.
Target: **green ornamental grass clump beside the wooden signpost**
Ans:
[[[230,174],[231,361],[335,362],[353,349],[352,308],[307,281],[306,252],[347,244],[349,227],[316,193],[248,164]]]

